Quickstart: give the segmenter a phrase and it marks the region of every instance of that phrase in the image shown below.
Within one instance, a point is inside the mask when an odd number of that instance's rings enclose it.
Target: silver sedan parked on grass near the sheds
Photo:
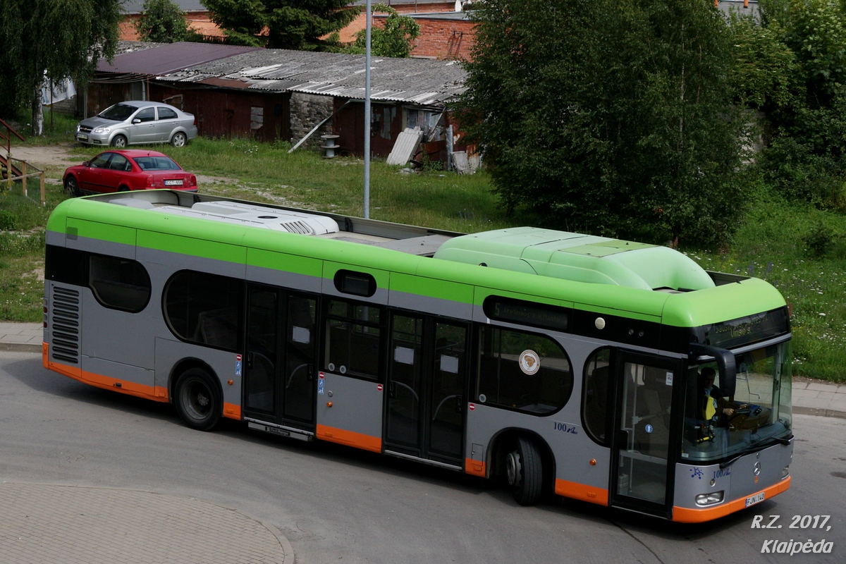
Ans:
[[[74,138],[85,145],[125,147],[170,143],[181,147],[197,136],[194,114],[160,101],[122,101],[83,119]]]

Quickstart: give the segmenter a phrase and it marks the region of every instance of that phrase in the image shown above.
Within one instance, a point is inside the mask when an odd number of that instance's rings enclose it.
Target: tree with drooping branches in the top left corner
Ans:
[[[121,0],[3,0],[0,3],[0,112],[29,99],[33,134],[44,134],[45,79],[85,85],[101,57],[118,46]]]

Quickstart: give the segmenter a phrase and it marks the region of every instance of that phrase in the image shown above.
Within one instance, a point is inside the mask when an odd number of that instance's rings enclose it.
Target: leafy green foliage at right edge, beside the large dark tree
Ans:
[[[772,139],[759,164],[790,200],[846,211],[846,11],[838,0],[761,0],[765,60],[793,56],[789,96],[761,105]],[[748,47],[747,43],[739,44]],[[769,58],[768,58],[769,57]],[[783,84],[783,79],[779,79]]]

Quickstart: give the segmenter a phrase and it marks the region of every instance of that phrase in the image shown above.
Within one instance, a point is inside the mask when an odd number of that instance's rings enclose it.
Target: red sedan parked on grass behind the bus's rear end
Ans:
[[[197,191],[197,178],[158,151],[106,151],[64,171],[64,189],[72,196],[127,190],[169,188]]]

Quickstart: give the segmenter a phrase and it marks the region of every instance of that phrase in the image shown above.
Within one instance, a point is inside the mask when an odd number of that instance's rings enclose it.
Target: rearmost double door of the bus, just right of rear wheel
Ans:
[[[251,286],[248,300],[244,412],[253,419],[313,431],[316,298]]]

